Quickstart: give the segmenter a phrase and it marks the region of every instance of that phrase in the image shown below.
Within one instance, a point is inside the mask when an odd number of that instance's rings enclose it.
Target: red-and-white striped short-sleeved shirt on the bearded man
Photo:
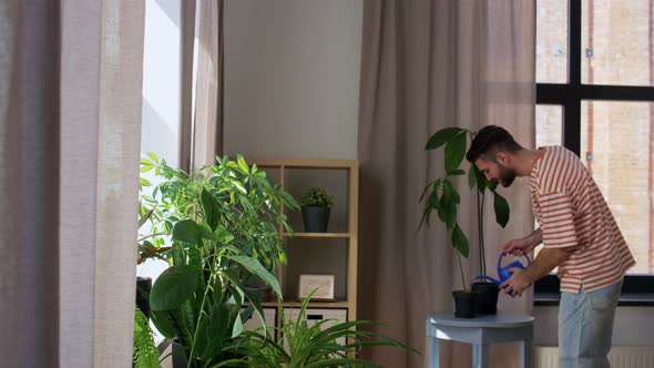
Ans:
[[[559,266],[561,290],[592,292],[620,282],[635,259],[591,173],[562,146],[540,150],[529,188],[543,247],[576,247]]]

